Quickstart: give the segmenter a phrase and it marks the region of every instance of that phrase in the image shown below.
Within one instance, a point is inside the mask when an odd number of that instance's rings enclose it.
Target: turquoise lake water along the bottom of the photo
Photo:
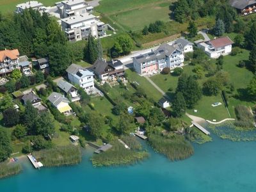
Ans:
[[[150,148],[134,166],[93,168],[91,150],[76,166],[35,170],[0,180],[0,191],[256,191],[256,142],[213,141],[194,145],[195,155],[171,162]]]

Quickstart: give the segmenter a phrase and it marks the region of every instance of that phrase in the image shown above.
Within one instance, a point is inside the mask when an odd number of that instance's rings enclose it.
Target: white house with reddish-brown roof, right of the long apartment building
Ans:
[[[234,42],[228,36],[223,36],[209,42],[201,42],[197,46],[211,58],[219,58],[221,55],[225,56],[232,52],[232,44]]]

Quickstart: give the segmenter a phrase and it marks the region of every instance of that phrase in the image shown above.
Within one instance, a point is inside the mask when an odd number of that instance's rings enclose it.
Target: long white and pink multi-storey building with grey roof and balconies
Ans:
[[[184,54],[177,45],[162,44],[156,51],[133,58],[133,67],[141,76],[158,74],[165,67],[181,67]]]

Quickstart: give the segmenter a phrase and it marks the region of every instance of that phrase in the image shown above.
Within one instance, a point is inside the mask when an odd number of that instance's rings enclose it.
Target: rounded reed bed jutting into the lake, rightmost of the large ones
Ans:
[[[149,134],[148,141],[152,148],[164,154],[172,161],[186,159],[194,154],[194,148],[184,136],[173,134],[167,138],[157,134]]]

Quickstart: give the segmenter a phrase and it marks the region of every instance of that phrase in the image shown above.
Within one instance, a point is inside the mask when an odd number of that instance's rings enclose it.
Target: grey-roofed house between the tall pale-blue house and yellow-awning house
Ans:
[[[64,80],[60,80],[57,85],[65,93],[66,96],[69,95],[71,102],[80,100],[80,95],[77,92],[77,88],[73,84]]]

